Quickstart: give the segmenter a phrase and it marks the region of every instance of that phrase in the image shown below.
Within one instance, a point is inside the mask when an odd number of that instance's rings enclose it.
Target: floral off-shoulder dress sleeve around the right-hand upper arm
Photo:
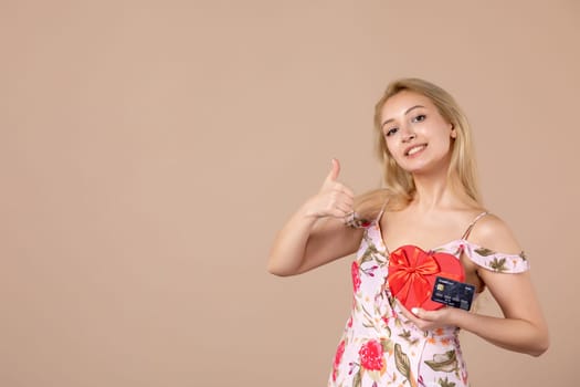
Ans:
[[[463,244],[463,251],[477,265],[497,273],[523,273],[529,270],[524,251],[505,254],[468,242]]]

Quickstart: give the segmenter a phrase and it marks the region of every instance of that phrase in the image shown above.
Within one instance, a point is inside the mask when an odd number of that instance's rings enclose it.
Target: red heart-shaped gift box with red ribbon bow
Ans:
[[[465,273],[460,260],[444,252],[425,252],[415,245],[403,245],[389,255],[389,287],[408,310],[433,311],[443,306],[431,301],[436,276],[463,282]]]

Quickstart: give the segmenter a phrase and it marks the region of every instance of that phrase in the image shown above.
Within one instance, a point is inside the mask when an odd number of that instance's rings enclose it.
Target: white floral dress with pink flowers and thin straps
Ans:
[[[524,253],[503,254],[466,240],[465,234],[432,252],[460,259],[465,253],[477,265],[504,273],[529,269]],[[351,265],[352,311],[336,351],[329,387],[467,386],[467,370],[457,338],[458,327],[421,331],[407,320],[386,281],[389,253],[378,220],[365,227]]]

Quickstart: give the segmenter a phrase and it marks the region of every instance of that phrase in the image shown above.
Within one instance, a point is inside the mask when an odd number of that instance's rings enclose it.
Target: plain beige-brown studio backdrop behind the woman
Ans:
[[[331,157],[378,184],[399,76],[467,112],[551,330],[540,358],[464,333],[473,385],[573,384],[579,40],[576,0],[1,1],[0,385],[324,386],[349,260],[266,255]]]

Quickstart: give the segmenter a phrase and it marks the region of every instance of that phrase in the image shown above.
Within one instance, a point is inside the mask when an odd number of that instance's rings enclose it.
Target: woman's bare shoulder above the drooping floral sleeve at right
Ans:
[[[509,226],[493,213],[486,215],[475,223],[468,239],[494,251],[513,254],[521,252],[521,247]]]

